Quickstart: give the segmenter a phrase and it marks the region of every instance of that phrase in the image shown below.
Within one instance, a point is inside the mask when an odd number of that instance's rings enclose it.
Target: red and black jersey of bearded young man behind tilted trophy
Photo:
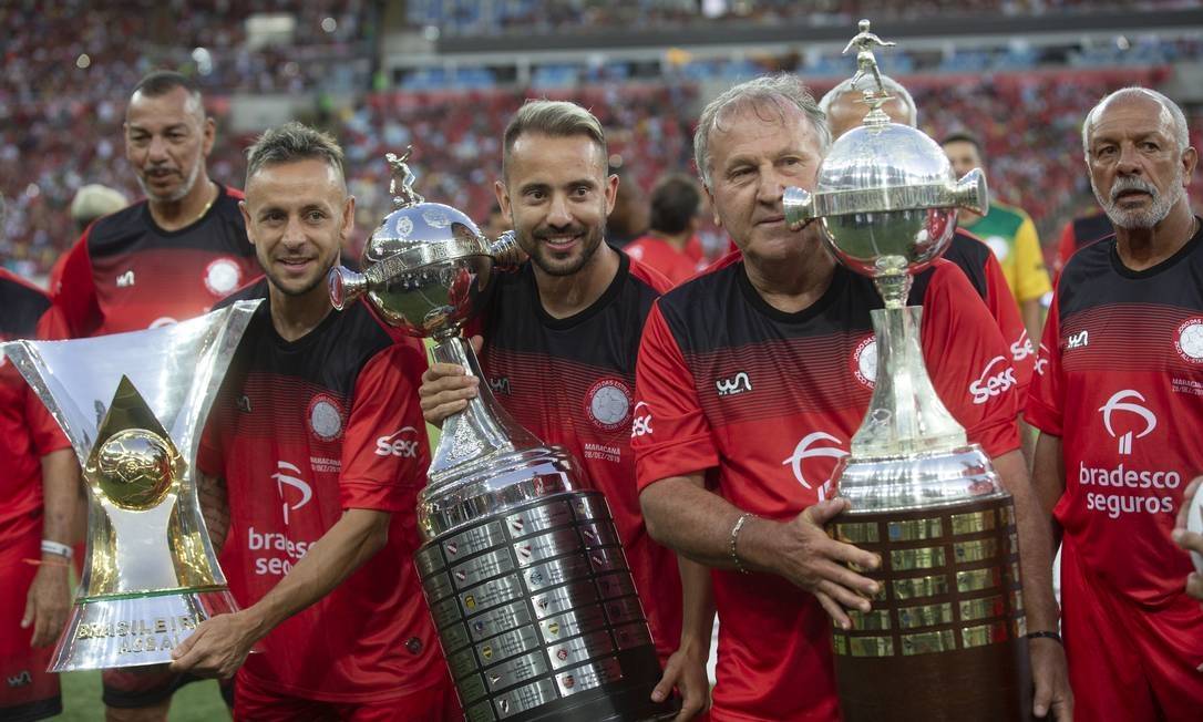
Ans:
[[[647,535],[635,489],[630,420],[639,336],[669,282],[620,253],[618,272],[587,309],[556,319],[534,271],[500,274],[481,332],[481,368],[498,402],[550,444],[573,452],[606,496],[662,656],[681,638],[676,555]]]

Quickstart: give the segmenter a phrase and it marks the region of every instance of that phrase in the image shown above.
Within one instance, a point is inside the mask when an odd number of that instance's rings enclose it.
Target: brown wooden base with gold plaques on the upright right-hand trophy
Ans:
[[[855,510],[829,532],[882,557],[872,611],[836,629],[847,722],[1031,716],[1031,669],[1011,496],[908,511]]]

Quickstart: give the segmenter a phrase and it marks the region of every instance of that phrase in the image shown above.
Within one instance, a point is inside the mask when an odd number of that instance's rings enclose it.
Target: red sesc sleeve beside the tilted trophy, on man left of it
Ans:
[[[344,509],[413,511],[426,481],[429,446],[417,402],[426,359],[417,343],[396,343],[360,371],[343,437]]]

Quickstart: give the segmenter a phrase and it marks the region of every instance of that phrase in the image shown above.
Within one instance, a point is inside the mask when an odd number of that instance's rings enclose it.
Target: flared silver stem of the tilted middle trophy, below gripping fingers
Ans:
[[[439,339],[431,353],[435,362],[458,363],[468,369],[468,375],[481,379],[476,397],[468,400],[468,407],[443,422],[439,445],[427,473],[431,486],[443,484],[451,478],[451,472],[466,463],[540,444],[493,397],[480,361],[463,337]]]

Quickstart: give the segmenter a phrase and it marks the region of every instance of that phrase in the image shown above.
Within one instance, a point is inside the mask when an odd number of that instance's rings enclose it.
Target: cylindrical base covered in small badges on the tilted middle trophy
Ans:
[[[671,718],[651,702],[659,659],[605,497],[497,505],[415,555],[466,720]]]

